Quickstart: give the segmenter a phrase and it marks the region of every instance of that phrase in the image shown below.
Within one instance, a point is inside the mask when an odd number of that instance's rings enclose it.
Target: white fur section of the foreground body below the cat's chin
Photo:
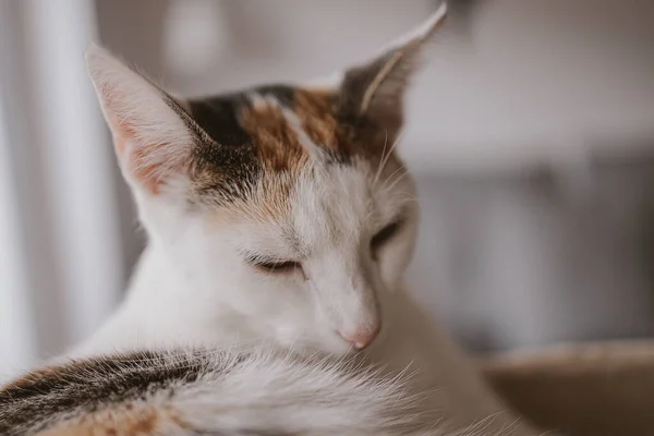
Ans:
[[[218,353],[223,359],[225,353]],[[227,354],[229,358],[229,354]],[[174,360],[171,361],[174,365]],[[229,366],[229,365],[228,365]],[[488,416],[467,426],[448,423],[423,407],[428,390],[405,389],[411,374],[388,377],[334,360],[306,365],[293,359],[256,354],[229,374],[211,373],[197,383],[157,392],[148,402],[169,405],[199,428],[239,434],[282,429],[303,436],[509,436],[519,423],[497,425]],[[166,404],[168,403],[168,404]],[[244,424],[246,423],[246,424]]]

